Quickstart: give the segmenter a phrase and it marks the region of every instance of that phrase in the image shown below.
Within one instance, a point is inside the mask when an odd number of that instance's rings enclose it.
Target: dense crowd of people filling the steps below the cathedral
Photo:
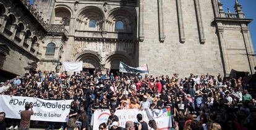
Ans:
[[[191,73],[182,79],[177,73],[171,76],[117,73],[114,76],[113,73],[103,75],[100,71],[72,75],[61,71],[37,71],[0,84],[3,95],[73,99],[69,118],[74,121],[62,123],[61,129],[89,129],[96,110],[109,109],[114,113],[130,108],[171,108],[172,129],[254,129],[255,95],[247,91],[252,88],[255,89],[255,79],[248,77],[235,79]],[[121,129],[116,117],[101,124],[99,129]],[[138,116],[137,119],[139,121]],[[79,125],[72,123],[75,121],[79,121]],[[54,123],[48,124],[48,129],[54,129]],[[135,128],[133,121],[126,124]],[[151,129],[157,129],[155,120],[148,124]],[[145,129],[144,124],[139,123],[139,126],[136,129]]]

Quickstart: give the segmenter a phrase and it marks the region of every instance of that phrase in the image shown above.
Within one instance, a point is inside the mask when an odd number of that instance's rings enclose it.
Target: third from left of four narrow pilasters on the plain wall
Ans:
[[[182,4],[181,0],[176,0],[177,3],[177,16],[179,22],[179,41],[181,43],[185,43],[185,31],[184,31],[184,22],[183,22],[183,12],[182,12]]]

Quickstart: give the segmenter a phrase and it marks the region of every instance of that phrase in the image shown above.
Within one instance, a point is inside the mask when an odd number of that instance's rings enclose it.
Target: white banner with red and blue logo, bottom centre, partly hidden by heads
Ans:
[[[116,110],[114,115],[119,118],[119,126],[125,128],[126,121],[137,121],[137,114],[142,114],[143,121],[147,122],[154,119],[157,124],[157,128],[171,129],[171,113],[169,110],[139,110],[139,109],[122,109]],[[101,123],[106,123],[110,115],[109,110],[101,111],[97,110],[93,114],[93,130],[98,129]],[[148,128],[150,128],[148,126]]]

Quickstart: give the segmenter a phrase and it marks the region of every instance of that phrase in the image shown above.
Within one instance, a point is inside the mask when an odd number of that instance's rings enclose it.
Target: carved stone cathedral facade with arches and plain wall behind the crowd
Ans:
[[[118,71],[147,63],[150,74],[254,73],[248,24],[239,1],[0,0],[1,77],[30,70]]]

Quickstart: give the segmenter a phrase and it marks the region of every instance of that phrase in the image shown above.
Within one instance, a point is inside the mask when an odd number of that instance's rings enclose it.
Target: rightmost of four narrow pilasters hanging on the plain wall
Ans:
[[[197,24],[198,24],[198,30],[199,30],[199,38],[200,43],[205,44],[205,31],[203,28],[203,20],[202,20],[202,13],[201,13],[201,7],[200,7],[200,1],[195,0],[195,11],[197,13]]]

